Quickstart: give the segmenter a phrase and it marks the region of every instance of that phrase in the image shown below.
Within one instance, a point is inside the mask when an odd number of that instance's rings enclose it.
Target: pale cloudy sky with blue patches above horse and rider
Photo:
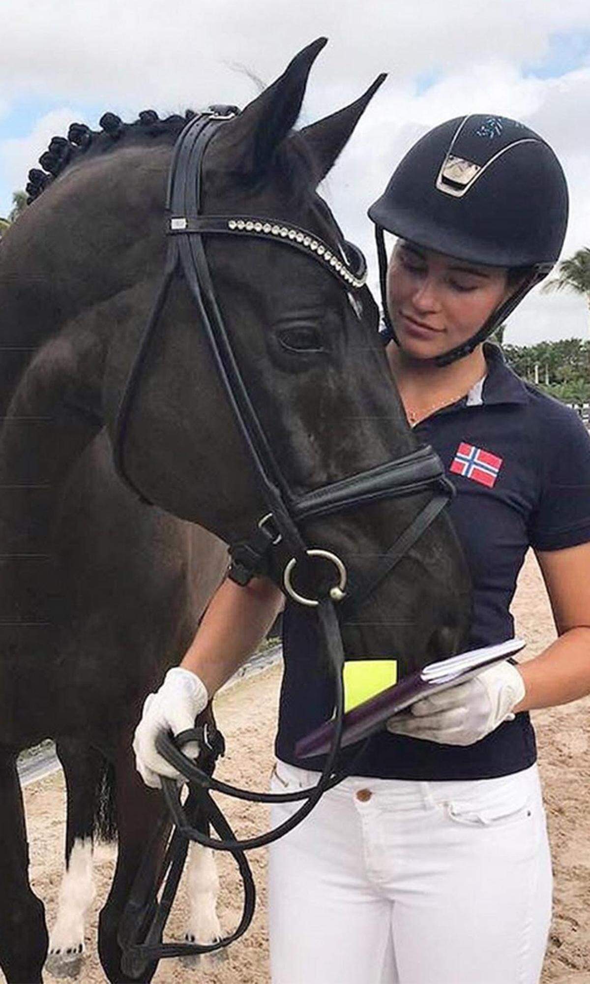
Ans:
[[[2,0],[0,35],[0,215],[71,122],[245,105],[324,35],[298,125],[388,73],[322,189],[376,291],[367,208],[423,133],[465,113],[512,117],[549,141],[570,193],[562,255],[590,246],[588,0]],[[590,338],[585,300],[536,288],[505,341],[572,337]]]

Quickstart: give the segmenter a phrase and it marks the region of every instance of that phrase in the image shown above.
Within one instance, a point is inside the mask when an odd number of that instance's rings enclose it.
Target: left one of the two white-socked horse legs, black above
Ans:
[[[105,760],[100,752],[78,739],[60,739],[56,751],[66,778],[66,868],[49,934],[46,967],[55,977],[76,977],[84,957],[87,913],[96,892],[93,831]]]

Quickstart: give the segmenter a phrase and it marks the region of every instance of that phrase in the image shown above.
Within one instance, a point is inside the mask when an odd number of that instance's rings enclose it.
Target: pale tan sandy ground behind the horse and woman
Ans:
[[[555,637],[555,629],[539,568],[532,554],[521,572],[512,606],[516,631],[528,641],[527,656],[540,652]],[[272,766],[272,737],[280,668],[273,667],[228,690],[217,701],[216,714],[228,752],[219,769],[238,785],[266,788]],[[253,713],[254,710],[254,713]],[[552,844],[555,894],[554,920],[542,984],[590,982],[590,698],[573,705],[533,712],[539,762]],[[30,875],[34,891],[45,901],[48,923],[55,912],[62,872],[64,840],[64,787],[61,772],[33,783],[25,790]],[[228,808],[230,823],[242,836],[266,827],[266,807],[238,804]],[[97,896],[87,934],[88,956],[84,984],[104,981],[96,956],[98,910],[108,891],[114,851],[99,846],[96,853]],[[251,853],[258,888],[258,906],[246,938],[234,944],[224,962],[204,957],[198,967],[178,960],[162,961],[153,978],[156,984],[265,984],[268,981],[266,938],[266,851]],[[220,915],[225,931],[235,926],[241,912],[237,876],[226,859],[220,862]],[[185,907],[179,897],[169,922],[169,937],[182,938]],[[4,978],[0,973],[0,980]],[[49,974],[45,980],[53,984]],[[315,982],[310,982],[315,984]],[[321,984],[321,982],[317,982]],[[345,984],[345,982],[342,982]],[[368,982],[370,984],[370,982]],[[474,982],[476,984],[476,982]],[[506,982],[508,984],[508,982]]]

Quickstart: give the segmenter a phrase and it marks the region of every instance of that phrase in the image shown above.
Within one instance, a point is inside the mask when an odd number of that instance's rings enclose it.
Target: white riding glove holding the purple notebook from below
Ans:
[[[496,663],[470,680],[394,714],[386,728],[392,734],[442,745],[472,745],[502,721],[513,720],[510,711],[524,694],[524,681],[516,667],[508,662]]]

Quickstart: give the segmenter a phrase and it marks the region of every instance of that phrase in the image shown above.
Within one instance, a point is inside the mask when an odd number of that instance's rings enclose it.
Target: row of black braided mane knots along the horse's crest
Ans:
[[[47,150],[40,155],[39,164],[29,171],[27,204],[38,198],[42,191],[62,171],[82,154],[100,154],[108,151],[119,140],[138,136],[159,137],[170,134],[176,137],[183,126],[195,116],[195,110],[187,109],[184,116],[173,114],[160,120],[154,109],[144,109],[133,123],[123,123],[115,113],[104,113],[98,120],[100,131],[92,131],[85,123],[72,123],[67,137],[52,137]]]

